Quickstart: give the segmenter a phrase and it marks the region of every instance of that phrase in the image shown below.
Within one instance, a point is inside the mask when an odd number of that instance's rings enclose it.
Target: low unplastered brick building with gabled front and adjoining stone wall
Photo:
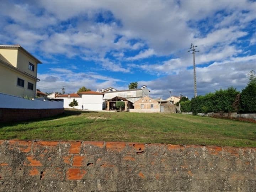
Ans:
[[[149,96],[140,98],[133,103],[134,109],[130,109],[130,112],[142,112],[142,113],[175,113],[176,108],[174,105],[170,105],[170,102],[162,99],[153,99]]]

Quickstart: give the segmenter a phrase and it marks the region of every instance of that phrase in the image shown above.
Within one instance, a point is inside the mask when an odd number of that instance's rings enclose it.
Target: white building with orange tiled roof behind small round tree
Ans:
[[[65,94],[58,95],[56,98],[62,98],[64,100],[64,108],[73,108],[69,107],[69,103],[75,99],[78,102],[78,106],[75,106],[75,109],[83,109],[90,111],[101,111],[102,110],[102,98],[103,93],[95,91],[86,91],[74,94]]]

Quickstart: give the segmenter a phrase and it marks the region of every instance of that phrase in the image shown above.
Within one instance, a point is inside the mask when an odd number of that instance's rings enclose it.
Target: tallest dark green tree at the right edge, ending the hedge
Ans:
[[[256,113],[256,74],[251,70],[248,75],[249,82],[240,95],[241,112]]]

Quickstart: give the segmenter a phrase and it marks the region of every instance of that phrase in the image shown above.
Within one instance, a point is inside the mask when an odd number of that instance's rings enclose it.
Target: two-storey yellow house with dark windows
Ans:
[[[0,93],[34,98],[39,63],[20,45],[0,45]]]

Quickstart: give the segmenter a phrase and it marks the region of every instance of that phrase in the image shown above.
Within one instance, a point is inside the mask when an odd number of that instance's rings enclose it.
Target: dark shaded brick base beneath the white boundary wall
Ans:
[[[64,113],[64,108],[60,109],[12,109],[0,108],[0,122],[22,121],[37,119],[42,117],[55,116]]]

